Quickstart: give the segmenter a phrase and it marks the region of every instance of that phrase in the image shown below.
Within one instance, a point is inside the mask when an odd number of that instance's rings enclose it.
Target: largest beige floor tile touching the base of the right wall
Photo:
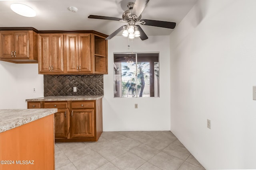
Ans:
[[[163,150],[163,152],[166,152],[167,154],[170,154],[170,155],[180,158],[182,160],[186,160],[188,158],[188,156],[190,155],[190,152],[186,148],[180,147],[173,143],[171,143],[168,147],[166,147]]]

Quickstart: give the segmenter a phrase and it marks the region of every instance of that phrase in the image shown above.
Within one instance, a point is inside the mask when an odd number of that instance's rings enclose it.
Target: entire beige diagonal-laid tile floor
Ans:
[[[103,132],[98,142],[56,143],[55,167],[56,170],[204,169],[171,131]]]

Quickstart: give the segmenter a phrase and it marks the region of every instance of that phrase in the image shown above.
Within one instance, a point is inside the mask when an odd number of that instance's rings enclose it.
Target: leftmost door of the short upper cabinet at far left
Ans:
[[[0,58],[13,58],[14,57],[13,32],[0,31],[0,34],[1,34]]]

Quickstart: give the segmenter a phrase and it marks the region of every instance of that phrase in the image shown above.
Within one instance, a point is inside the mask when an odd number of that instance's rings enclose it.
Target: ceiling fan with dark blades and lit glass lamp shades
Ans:
[[[129,37],[130,39],[133,39],[134,37],[140,37],[141,40],[148,39],[146,33],[142,30],[140,25],[136,25],[136,23],[140,23],[142,25],[174,29],[174,27],[176,26],[175,22],[141,19],[141,13],[148,4],[148,1],[149,0],[136,0],[135,2],[129,2],[127,4],[127,7],[129,9],[124,11],[122,18],[95,15],[90,15],[88,16],[88,18],[127,22],[126,25],[123,25],[122,27],[114,31],[112,34],[110,34],[106,38],[106,40],[113,38],[122,30],[124,30],[122,33],[124,37]]]

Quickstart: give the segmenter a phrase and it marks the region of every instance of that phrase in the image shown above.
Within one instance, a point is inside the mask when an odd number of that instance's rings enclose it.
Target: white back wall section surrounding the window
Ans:
[[[108,41],[108,75],[104,75],[103,130],[170,130],[170,42],[169,36],[149,36],[141,41],[114,37]],[[160,52],[160,98],[114,98],[114,55],[116,52]],[[134,104],[138,104],[138,109]]]

